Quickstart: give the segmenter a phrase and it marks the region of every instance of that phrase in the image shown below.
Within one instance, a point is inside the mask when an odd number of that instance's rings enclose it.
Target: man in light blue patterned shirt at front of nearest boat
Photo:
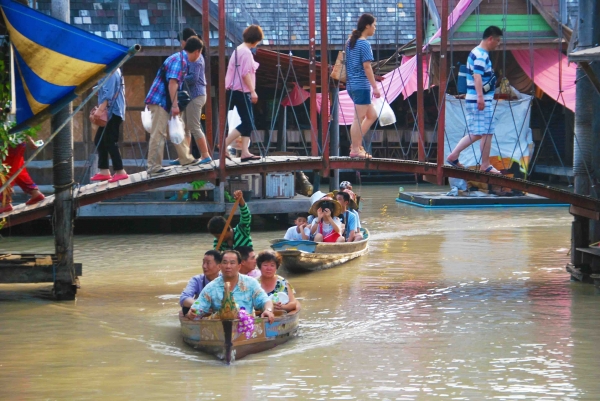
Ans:
[[[275,315],[273,314],[273,302],[267,297],[267,293],[262,289],[258,281],[252,277],[240,274],[242,257],[237,251],[223,252],[221,260],[221,276],[217,277],[204,287],[200,296],[194,302],[190,311],[186,315],[188,319],[196,319],[198,316],[207,313],[216,312],[221,308],[223,300],[223,291],[225,282],[233,288],[231,293],[235,303],[246,309],[250,314],[252,309],[263,310],[261,317],[269,319],[273,323]]]

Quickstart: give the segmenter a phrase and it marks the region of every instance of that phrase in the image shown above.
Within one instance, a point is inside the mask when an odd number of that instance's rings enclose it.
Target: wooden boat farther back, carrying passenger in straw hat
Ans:
[[[363,240],[357,242],[324,243],[275,239],[271,248],[282,257],[282,266],[301,273],[329,269],[358,258],[369,251],[369,230],[361,229]]]

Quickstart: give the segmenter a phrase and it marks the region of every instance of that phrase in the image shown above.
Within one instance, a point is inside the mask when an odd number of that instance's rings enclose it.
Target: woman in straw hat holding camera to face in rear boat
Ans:
[[[345,242],[342,237],[342,224],[339,216],[342,212],[340,203],[330,196],[322,197],[322,192],[311,196],[312,206],[308,213],[316,216],[310,229],[315,242]]]

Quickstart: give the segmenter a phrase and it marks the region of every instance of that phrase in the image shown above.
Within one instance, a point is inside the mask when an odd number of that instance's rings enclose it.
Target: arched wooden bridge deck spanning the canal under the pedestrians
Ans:
[[[262,160],[239,163],[227,161],[228,175],[241,175],[252,173],[268,173],[298,170],[321,170],[323,160],[320,157],[311,156],[267,156]],[[379,170],[396,171],[424,175],[435,175],[436,164],[422,163],[409,160],[379,159],[371,160],[351,159],[349,157],[331,157],[329,160],[331,169],[354,169],[354,170]],[[195,180],[214,181],[219,178],[219,161],[199,166],[174,166],[161,175],[149,176],[146,172],[129,175],[126,180],[108,183],[106,181],[85,185],[74,190],[76,206],[85,206],[103,200],[118,198],[131,193],[143,192],[150,189],[161,188],[167,185]],[[471,181],[502,185],[504,187],[530,192],[572,205],[571,211],[586,217],[596,218],[600,215],[600,201],[588,196],[576,195],[569,191],[553,188],[547,185],[531,181],[504,177],[479,171],[459,169],[444,166],[444,176],[462,178]],[[14,206],[11,212],[0,215],[6,219],[6,227],[25,223],[52,214],[54,196],[48,196],[42,202],[26,206],[20,204]]]

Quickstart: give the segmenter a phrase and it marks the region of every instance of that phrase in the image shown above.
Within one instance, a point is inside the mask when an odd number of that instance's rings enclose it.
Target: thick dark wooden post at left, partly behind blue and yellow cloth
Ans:
[[[68,0],[52,0],[51,12],[54,18],[69,23]],[[51,120],[52,131],[69,118],[73,107],[69,105],[55,114]],[[54,200],[54,245],[56,265],[54,266],[54,296],[58,300],[75,299],[77,276],[73,263],[73,126],[65,125],[54,138],[53,178]]]

